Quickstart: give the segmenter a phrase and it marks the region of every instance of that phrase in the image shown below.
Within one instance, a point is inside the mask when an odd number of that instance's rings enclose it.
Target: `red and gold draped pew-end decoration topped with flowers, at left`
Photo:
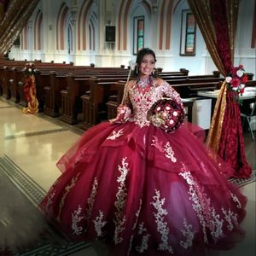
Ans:
[[[22,109],[23,113],[38,113],[38,98],[37,98],[37,87],[36,87],[36,77],[38,69],[35,65],[31,63],[26,63],[24,67],[25,73],[25,84],[24,84],[24,94],[26,96],[27,107]]]

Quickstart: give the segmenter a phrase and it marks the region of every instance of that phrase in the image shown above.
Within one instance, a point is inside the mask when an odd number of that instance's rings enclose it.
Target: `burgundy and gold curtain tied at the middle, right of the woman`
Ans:
[[[233,67],[238,0],[188,0],[207,49],[220,73]],[[234,177],[250,177],[241,129],[240,108],[222,85],[215,105],[207,145],[234,169]]]

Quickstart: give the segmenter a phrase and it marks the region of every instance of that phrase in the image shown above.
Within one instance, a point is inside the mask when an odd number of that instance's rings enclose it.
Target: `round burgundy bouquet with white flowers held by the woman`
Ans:
[[[183,125],[185,114],[182,103],[171,98],[162,98],[148,110],[148,120],[166,132],[174,132]]]

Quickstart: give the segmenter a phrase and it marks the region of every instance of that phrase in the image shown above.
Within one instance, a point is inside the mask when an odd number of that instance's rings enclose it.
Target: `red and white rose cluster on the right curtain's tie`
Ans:
[[[239,96],[244,93],[244,88],[248,80],[247,75],[244,72],[244,67],[239,65],[238,67],[233,67],[231,72],[225,78],[228,89],[234,93],[234,99],[236,101],[239,99]]]

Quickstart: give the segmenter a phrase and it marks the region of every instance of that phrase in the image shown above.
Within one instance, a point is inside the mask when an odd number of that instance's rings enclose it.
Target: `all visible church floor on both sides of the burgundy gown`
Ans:
[[[57,119],[45,118],[41,113],[23,114],[14,103],[1,98],[0,122],[0,255],[4,242],[9,247],[23,246],[23,253],[14,255],[106,255],[108,250],[100,242],[94,246],[90,243],[68,243],[35,208],[61,174],[55,163],[77,141],[82,131],[73,130],[72,126],[61,124]],[[250,157],[248,161],[254,170],[253,178],[234,182],[243,185],[243,193],[248,197],[247,218],[242,224],[247,236],[234,249],[221,252],[220,256],[238,256],[241,253],[253,256],[256,253],[255,144],[249,133],[245,142]],[[48,243],[38,245],[38,250],[34,249],[33,253],[26,253],[24,246],[39,241],[41,231],[47,234]],[[12,236],[12,233],[17,234]]]

